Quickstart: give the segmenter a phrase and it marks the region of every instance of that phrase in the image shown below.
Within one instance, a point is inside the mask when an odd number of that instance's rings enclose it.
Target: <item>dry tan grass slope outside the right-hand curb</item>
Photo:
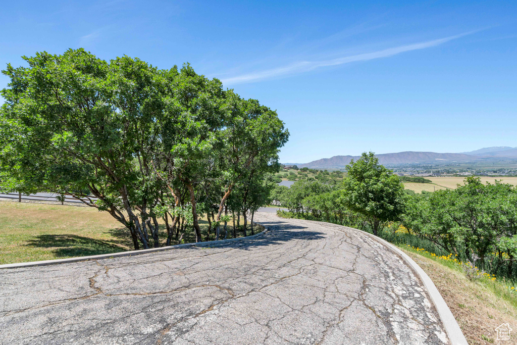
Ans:
[[[505,282],[488,278],[471,281],[451,262],[401,249],[433,280],[469,344],[517,343],[517,332],[511,334],[510,341],[497,341],[494,330],[502,323],[517,329],[517,292],[509,292]]]

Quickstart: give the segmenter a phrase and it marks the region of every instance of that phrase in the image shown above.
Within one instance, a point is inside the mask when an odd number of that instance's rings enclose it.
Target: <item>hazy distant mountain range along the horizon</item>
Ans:
[[[493,146],[463,152],[463,153],[436,153],[405,151],[397,153],[386,153],[375,155],[381,164],[403,164],[403,163],[429,163],[447,161],[473,161],[486,158],[515,158],[517,159],[517,147]],[[334,156],[322,158],[309,163],[296,163],[299,168],[344,168],[352,159],[357,160],[360,156]],[[285,163],[285,165],[292,165]]]

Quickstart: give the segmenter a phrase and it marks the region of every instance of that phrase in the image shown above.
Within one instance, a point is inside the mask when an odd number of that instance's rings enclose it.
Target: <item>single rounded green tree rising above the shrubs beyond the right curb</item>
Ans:
[[[372,152],[352,160],[346,172],[343,201],[352,211],[367,217],[375,235],[387,222],[399,219],[404,209],[404,187]]]

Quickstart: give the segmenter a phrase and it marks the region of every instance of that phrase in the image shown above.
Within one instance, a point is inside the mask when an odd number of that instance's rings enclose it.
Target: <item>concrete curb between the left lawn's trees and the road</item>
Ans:
[[[154,252],[171,250],[171,249],[188,248],[188,247],[210,247],[212,245],[219,246],[219,245],[224,245],[229,242],[240,241],[240,240],[246,239],[246,238],[255,238],[255,237],[257,237],[259,235],[263,235],[269,231],[269,229],[267,227],[263,226],[260,223],[253,222],[253,224],[255,224],[256,227],[260,227],[262,229],[262,231],[254,234],[254,235],[246,236],[246,237],[220,239],[219,241],[184,243],[184,244],[177,244],[177,245],[169,246],[169,247],[150,248],[150,249],[141,249],[141,250],[132,250],[132,251],[120,251],[120,252],[111,253],[111,254],[90,255],[87,257],[33,261],[33,262],[19,262],[19,263],[14,263],[14,264],[0,265],[0,269],[48,266],[48,265],[57,265],[57,264],[63,264],[63,263],[69,263],[69,262],[92,261],[92,260],[112,259],[112,258],[120,258],[120,257],[132,257],[135,255],[154,253]]]

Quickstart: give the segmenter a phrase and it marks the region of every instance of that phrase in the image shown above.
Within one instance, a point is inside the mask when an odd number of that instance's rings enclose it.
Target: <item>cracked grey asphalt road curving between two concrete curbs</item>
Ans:
[[[257,213],[212,248],[0,270],[3,344],[443,344],[411,269],[367,235]]]

